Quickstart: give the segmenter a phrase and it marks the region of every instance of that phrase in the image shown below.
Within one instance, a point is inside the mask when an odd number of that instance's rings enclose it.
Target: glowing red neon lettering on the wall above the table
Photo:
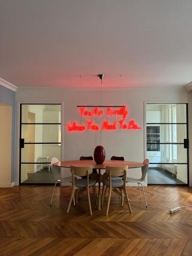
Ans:
[[[103,120],[101,125],[95,123],[94,120],[87,119],[85,124],[78,124],[77,121],[73,121],[71,123],[67,123],[67,131],[68,132],[84,132],[99,130],[102,131],[115,131],[115,130],[141,130],[142,127],[139,126],[134,119],[126,120],[129,115],[129,111],[127,110],[127,106],[121,106],[118,109],[113,109],[111,106],[108,106],[106,110],[100,109],[98,106],[95,106],[92,110],[88,110],[86,106],[80,106],[79,115],[84,118],[93,118],[95,117],[106,117],[113,118],[120,117],[120,120]]]

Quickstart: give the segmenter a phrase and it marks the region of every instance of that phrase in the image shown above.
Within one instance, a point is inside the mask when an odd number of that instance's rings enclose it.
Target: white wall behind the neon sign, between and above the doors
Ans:
[[[42,100],[44,99],[44,100]],[[63,157],[64,160],[79,159],[82,155],[93,155],[94,148],[102,144],[106,159],[111,156],[124,156],[126,160],[143,161],[144,159],[144,102],[186,103],[187,92],[183,88],[165,91],[153,88],[103,89],[101,104],[127,104],[130,115],[127,119],[135,119],[142,130],[103,131],[84,133],[68,133],[66,122],[81,122],[76,105],[95,105],[100,103],[100,90],[96,89],[20,89],[16,92],[16,101],[26,103],[61,103],[63,102]],[[17,123],[18,123],[17,115]],[[139,169],[130,170],[130,176],[140,176]],[[69,170],[65,170],[69,176]]]

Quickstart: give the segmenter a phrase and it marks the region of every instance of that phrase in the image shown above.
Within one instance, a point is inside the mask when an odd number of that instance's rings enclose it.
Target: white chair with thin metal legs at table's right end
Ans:
[[[140,179],[136,179],[136,178],[126,177],[126,182],[133,182],[133,183],[137,183],[138,186],[139,186],[139,185],[142,186],[143,196],[144,196],[145,204],[146,204],[146,207],[147,207],[148,205],[147,205],[147,202],[146,202],[145,191],[144,191],[144,187],[143,187],[143,185],[142,185],[141,182],[143,182],[143,181],[145,180],[145,177],[146,177],[146,174],[147,174],[147,169],[148,169],[149,160],[148,160],[147,158],[144,159],[143,164],[144,164],[144,166],[141,167],[141,173],[142,173],[141,178],[140,178]],[[139,195],[140,195],[140,198],[141,198],[140,186],[139,186]]]

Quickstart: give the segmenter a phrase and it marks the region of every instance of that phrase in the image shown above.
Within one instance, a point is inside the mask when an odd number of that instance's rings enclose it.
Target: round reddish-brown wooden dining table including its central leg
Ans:
[[[97,164],[94,160],[70,160],[70,161],[61,161],[54,163],[58,167],[70,168],[71,166],[92,166],[92,168],[98,169],[98,174],[93,174],[98,182],[98,210],[101,209],[101,182],[102,174],[101,169],[106,169],[106,166],[124,166],[128,165],[128,169],[139,168],[144,166],[143,163],[133,162],[133,161],[120,161],[120,160],[105,160],[102,164]]]

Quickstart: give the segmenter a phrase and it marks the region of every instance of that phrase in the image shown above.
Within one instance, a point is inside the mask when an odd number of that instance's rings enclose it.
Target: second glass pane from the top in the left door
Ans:
[[[58,142],[61,139],[60,124],[22,124],[25,142]]]

